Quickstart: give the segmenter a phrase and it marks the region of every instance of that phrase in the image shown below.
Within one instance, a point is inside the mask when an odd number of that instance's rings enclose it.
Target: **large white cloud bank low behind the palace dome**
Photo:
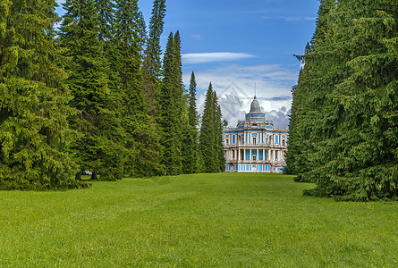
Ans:
[[[280,65],[241,66],[232,64],[227,67],[195,72],[198,84],[199,113],[203,112],[206,90],[209,82],[219,97],[224,119],[230,126],[244,119],[249,113],[250,103],[255,94],[266,113],[267,119],[275,126],[286,127],[287,111],[292,104],[291,88],[296,84],[298,71],[292,71]],[[184,83],[189,85],[191,72],[184,73]],[[255,87],[256,84],[256,87]]]

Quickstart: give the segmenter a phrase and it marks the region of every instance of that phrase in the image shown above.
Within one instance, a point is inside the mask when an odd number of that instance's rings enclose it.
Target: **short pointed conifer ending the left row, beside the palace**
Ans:
[[[199,134],[199,152],[200,161],[203,162],[203,172],[224,172],[225,158],[221,118],[216,91],[213,91],[213,86],[210,83],[206,93]]]

